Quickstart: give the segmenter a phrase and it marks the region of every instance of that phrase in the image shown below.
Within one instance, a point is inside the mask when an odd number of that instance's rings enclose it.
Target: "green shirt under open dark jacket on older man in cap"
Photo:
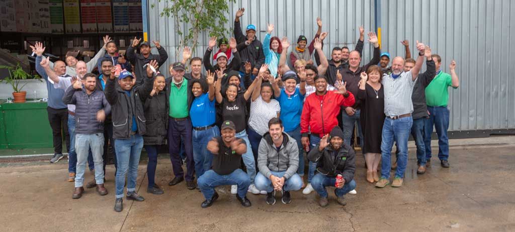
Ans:
[[[188,117],[188,80],[184,78],[180,88],[170,82],[170,109],[168,115],[172,118],[186,118]]]

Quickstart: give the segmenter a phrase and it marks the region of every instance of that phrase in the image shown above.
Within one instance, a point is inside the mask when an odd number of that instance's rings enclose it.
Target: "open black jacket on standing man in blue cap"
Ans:
[[[144,81],[140,86],[134,85],[130,90],[130,96],[116,84],[117,81],[109,78],[104,90],[112,109],[113,139],[130,138],[132,116],[136,119],[138,134],[143,136],[147,132],[143,103],[152,91],[153,81]]]

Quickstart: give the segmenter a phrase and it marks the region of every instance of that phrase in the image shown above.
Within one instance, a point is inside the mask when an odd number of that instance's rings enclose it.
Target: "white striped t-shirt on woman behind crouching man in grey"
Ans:
[[[271,99],[269,103],[263,101],[261,95],[255,101],[250,103],[249,126],[259,135],[263,136],[268,132],[268,121],[277,117],[277,113],[281,112],[281,106],[275,99]]]

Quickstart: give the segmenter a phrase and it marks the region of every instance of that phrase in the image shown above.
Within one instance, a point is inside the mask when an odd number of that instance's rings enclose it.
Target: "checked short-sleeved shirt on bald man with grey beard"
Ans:
[[[387,117],[395,117],[406,113],[413,113],[411,94],[415,82],[411,72],[403,72],[397,78],[391,74],[383,77],[382,84],[385,94],[385,114]]]

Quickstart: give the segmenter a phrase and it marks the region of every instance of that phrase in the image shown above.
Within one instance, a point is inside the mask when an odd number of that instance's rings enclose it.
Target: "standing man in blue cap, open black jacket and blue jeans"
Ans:
[[[147,72],[152,72],[147,67]],[[152,77],[152,75],[148,75]],[[117,77],[115,71],[107,81],[105,93],[107,101],[111,104],[113,121],[113,138],[116,148],[116,201],[114,210],[123,210],[125,174],[127,174],[127,200],[144,201],[145,198],[136,193],[136,178],[138,177],[138,164],[143,148],[143,137],[146,133],[143,102],[150,95],[153,81],[144,81],[141,86],[134,86],[132,73],[125,71]],[[143,76],[140,76],[142,79]]]

